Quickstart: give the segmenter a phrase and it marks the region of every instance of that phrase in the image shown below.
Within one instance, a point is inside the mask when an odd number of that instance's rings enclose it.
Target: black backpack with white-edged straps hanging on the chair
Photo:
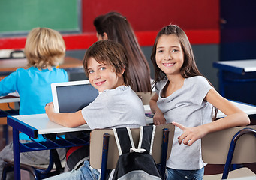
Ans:
[[[161,179],[161,173],[152,157],[155,125],[140,127],[140,140],[135,148],[128,127],[113,128],[119,160],[113,179]],[[159,147],[161,148],[161,147]]]

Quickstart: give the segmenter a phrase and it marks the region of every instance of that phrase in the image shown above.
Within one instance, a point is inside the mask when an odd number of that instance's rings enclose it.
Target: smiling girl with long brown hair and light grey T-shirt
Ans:
[[[206,163],[200,139],[217,130],[245,126],[250,123],[248,115],[219,95],[200,74],[188,37],[179,26],[165,26],[158,32],[151,59],[156,94],[149,104],[155,113],[154,124],[176,126],[167,178],[203,179]],[[216,108],[227,116],[212,121]]]

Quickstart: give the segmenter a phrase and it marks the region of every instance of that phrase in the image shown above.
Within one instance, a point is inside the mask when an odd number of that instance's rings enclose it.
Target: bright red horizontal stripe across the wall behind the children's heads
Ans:
[[[193,30],[185,31],[191,44],[218,44],[218,30]],[[152,46],[155,42],[158,31],[136,31],[135,35],[140,46]],[[63,35],[67,50],[88,49],[92,43],[95,43],[97,37],[95,33],[84,33],[77,35]],[[26,37],[2,38],[0,39],[0,49],[23,49],[26,43]]]

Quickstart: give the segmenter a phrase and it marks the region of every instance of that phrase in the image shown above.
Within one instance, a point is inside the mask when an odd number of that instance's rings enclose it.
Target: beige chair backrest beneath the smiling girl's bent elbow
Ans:
[[[252,132],[256,130],[255,125],[246,127],[233,127],[214,133],[209,133],[204,136],[202,139],[203,162],[209,164],[225,164],[230,148],[230,142],[232,141],[233,136],[235,136],[239,130],[242,130],[242,133],[244,133],[245,130],[243,129],[245,128],[251,128],[253,130],[250,130],[250,133],[245,133],[244,135],[239,136],[239,139],[236,142],[236,148],[233,153],[231,163],[255,163],[256,134],[255,132]]]

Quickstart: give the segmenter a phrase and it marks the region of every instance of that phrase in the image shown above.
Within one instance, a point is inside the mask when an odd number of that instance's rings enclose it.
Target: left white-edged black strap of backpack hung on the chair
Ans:
[[[115,135],[119,155],[130,152],[130,148],[135,148],[131,130],[128,127],[113,128],[113,133]]]

